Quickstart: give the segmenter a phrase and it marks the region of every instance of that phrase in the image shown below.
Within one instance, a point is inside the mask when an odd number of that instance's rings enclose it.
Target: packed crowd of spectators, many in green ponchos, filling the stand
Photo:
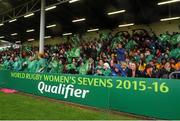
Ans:
[[[46,45],[44,54],[33,46],[9,48],[0,52],[0,64],[1,69],[35,73],[168,78],[180,71],[180,43],[171,42],[175,35],[180,39],[179,33],[100,34],[87,42]]]

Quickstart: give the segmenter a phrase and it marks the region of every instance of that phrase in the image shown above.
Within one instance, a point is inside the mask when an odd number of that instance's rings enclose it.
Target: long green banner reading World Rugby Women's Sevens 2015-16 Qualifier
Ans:
[[[180,119],[180,80],[0,71],[1,87],[157,119]]]

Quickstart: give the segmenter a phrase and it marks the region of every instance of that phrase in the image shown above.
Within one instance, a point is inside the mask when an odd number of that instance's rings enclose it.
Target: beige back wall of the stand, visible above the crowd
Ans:
[[[166,31],[169,31],[170,33],[173,32],[180,32],[180,20],[174,20],[174,21],[166,21],[166,22],[156,22],[152,23],[150,25],[134,25],[130,27],[123,27],[123,28],[115,28],[113,31],[111,30],[100,30],[99,32],[90,32],[90,33],[84,33],[81,36],[81,40],[93,40],[94,38],[99,38],[99,33],[101,32],[112,32],[113,34],[117,33],[118,31],[128,31],[130,34],[132,34],[133,29],[145,29],[148,32],[153,31],[157,35],[164,33]],[[68,37],[56,37],[51,39],[45,40],[45,45],[51,44],[61,44],[68,41]],[[38,45],[38,41],[33,42],[25,42],[24,44],[28,45]]]

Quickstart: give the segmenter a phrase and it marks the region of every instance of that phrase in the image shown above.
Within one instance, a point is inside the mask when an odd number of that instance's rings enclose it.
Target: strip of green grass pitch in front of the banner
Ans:
[[[0,120],[107,120],[138,119],[104,110],[69,105],[48,98],[0,92]],[[139,118],[140,119],[140,118]]]

